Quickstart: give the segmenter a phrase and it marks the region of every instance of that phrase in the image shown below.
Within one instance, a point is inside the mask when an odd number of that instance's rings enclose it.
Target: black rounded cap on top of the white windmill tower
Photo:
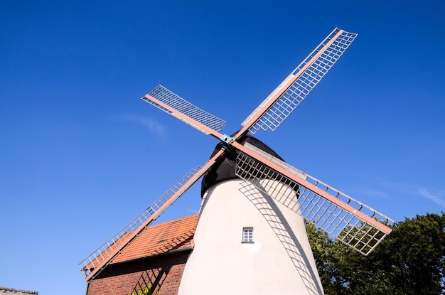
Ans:
[[[232,136],[235,136],[235,134],[232,134]],[[238,142],[240,144],[245,144],[248,142],[249,144],[256,146],[258,149],[262,149],[262,151],[265,151],[267,154],[284,161],[282,157],[280,157],[273,149],[269,148],[269,146],[264,144],[262,141],[254,138],[254,136],[246,134],[245,136],[242,136]],[[218,153],[218,151],[220,151],[222,148],[223,143],[217,144],[210,158]],[[218,163],[215,163],[215,165],[213,165],[213,167],[204,174],[203,181],[201,182],[201,198],[203,197],[205,191],[210,188],[210,186],[215,186],[216,183],[220,183],[221,181],[239,178],[235,175],[235,160],[237,159],[237,155],[238,151],[236,149],[227,149],[225,157]]]

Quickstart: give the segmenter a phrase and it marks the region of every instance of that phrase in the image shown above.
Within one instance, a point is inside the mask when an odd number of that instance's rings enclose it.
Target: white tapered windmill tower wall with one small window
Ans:
[[[301,216],[246,184],[205,195],[178,294],[323,294]],[[243,227],[253,243],[242,243]]]

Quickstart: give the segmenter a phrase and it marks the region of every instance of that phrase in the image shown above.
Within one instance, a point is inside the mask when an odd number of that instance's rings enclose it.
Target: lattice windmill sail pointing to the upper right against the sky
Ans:
[[[242,126],[255,134],[274,131],[299,106],[358,36],[335,28],[250,114]]]

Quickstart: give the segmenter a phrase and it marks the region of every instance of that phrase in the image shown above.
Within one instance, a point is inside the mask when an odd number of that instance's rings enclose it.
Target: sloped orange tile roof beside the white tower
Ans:
[[[153,225],[143,230],[111,264],[193,247],[198,215]]]

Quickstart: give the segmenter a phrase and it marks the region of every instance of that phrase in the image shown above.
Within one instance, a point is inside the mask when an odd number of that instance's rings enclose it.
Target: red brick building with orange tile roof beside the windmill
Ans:
[[[177,294],[198,215],[147,227],[94,279],[87,295]]]

